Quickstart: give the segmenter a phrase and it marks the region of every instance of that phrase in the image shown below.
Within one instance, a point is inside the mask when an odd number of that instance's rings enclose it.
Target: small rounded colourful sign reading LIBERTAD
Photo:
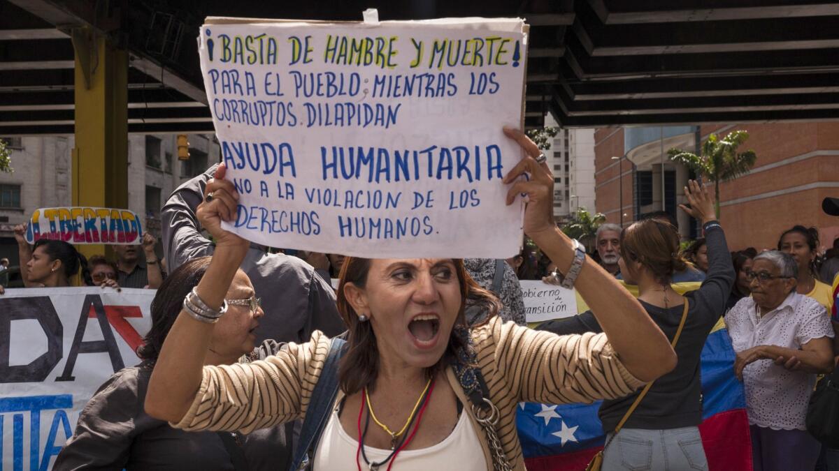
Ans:
[[[140,218],[129,210],[90,207],[40,208],[26,227],[26,241],[65,241],[74,245],[134,245],[143,240]]]

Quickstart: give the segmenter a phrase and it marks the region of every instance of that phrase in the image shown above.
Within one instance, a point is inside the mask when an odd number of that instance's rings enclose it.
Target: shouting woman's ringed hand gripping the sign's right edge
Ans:
[[[513,204],[517,195],[525,195],[524,233],[530,237],[545,230],[555,230],[554,175],[547,163],[536,162],[541,154],[539,146],[518,129],[504,127],[504,134],[518,142],[525,153],[524,158],[504,177],[503,183],[513,184],[507,193],[507,204]],[[519,179],[522,175],[526,175],[527,179]]]

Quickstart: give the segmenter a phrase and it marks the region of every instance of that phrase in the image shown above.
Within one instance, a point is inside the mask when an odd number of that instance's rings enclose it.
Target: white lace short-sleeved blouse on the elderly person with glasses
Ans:
[[[833,337],[824,306],[792,292],[774,311],[758,318],[753,298],[743,298],[726,313],[734,351],[758,345],[800,349],[812,339]],[[807,402],[816,375],[785,370],[772,360],[758,360],[743,370],[748,422],[774,430],[805,430]]]

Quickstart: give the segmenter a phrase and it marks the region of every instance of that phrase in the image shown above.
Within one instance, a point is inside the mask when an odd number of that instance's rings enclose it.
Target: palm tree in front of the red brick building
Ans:
[[[737,153],[737,148],[746,142],[748,132],[734,131],[720,140],[717,134],[708,136],[708,140],[702,144],[702,155],[685,152],[679,148],[672,148],[667,151],[670,160],[675,163],[682,163],[685,167],[693,170],[697,175],[714,182],[715,210],[717,219],[720,217],[720,182],[727,182],[748,173],[758,156],[749,149],[743,153]]]

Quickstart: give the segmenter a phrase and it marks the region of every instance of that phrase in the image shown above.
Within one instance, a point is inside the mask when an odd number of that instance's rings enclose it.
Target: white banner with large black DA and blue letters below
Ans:
[[[0,295],[0,469],[50,469],[79,412],[139,363],[154,291],[8,289]]]

